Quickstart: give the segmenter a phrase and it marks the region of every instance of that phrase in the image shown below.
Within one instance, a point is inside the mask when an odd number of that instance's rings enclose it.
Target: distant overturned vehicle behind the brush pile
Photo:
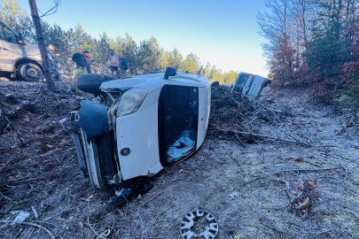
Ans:
[[[261,89],[268,86],[272,81],[252,73],[238,73],[233,84],[232,92],[242,93],[248,96],[259,97]]]

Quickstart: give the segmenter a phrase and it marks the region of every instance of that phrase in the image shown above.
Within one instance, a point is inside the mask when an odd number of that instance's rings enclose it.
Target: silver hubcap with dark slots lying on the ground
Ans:
[[[207,226],[206,229],[200,234],[194,233],[195,221],[196,219],[206,218]],[[215,220],[215,217],[206,211],[196,210],[187,213],[180,225],[180,232],[183,239],[194,239],[194,238],[205,238],[205,239],[214,239],[215,235],[218,233],[218,223]]]

